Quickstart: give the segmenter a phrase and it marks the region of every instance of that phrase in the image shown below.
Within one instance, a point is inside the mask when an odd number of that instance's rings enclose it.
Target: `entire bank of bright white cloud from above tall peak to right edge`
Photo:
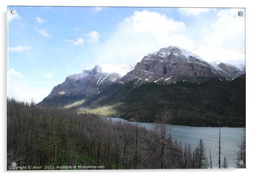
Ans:
[[[193,37],[196,30],[186,30],[191,26],[184,22],[156,12],[136,11],[122,20],[108,40],[100,45],[95,51],[96,58],[100,63],[131,63],[148,53],[174,45],[193,50],[206,61],[245,59],[245,23],[244,17],[237,15],[240,10],[222,9],[216,13],[217,19],[205,18],[207,23],[196,24],[205,32],[196,33],[196,37]]]

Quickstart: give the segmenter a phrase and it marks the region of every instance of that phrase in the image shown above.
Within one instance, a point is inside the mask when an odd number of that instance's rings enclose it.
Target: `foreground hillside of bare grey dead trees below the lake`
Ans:
[[[152,130],[121,121],[79,114],[57,107],[7,99],[7,169],[64,165],[104,169],[208,168],[202,140],[195,150],[167,133],[167,110],[157,115]],[[45,166],[52,166],[45,168]]]

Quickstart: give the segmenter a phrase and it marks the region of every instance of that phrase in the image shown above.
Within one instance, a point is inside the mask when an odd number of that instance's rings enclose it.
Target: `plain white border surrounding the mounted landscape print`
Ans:
[[[36,171],[36,172],[6,172],[6,9],[7,5],[35,5],[35,6],[148,6],[148,7],[233,7],[233,8],[246,8],[246,141],[247,141],[247,169],[229,169],[229,170],[73,170],[73,171]],[[256,165],[256,143],[255,143],[255,125],[256,115],[254,115],[254,101],[256,84],[256,6],[253,4],[253,0],[1,0],[0,12],[1,12],[1,99],[0,99],[0,112],[1,112],[1,160],[0,168],[4,175],[131,175],[131,174],[147,174],[156,175],[168,174],[178,175],[186,174],[190,176],[198,176],[198,174],[207,174],[208,176],[216,176],[217,174],[232,174],[241,176],[242,174],[253,173],[253,169]]]

